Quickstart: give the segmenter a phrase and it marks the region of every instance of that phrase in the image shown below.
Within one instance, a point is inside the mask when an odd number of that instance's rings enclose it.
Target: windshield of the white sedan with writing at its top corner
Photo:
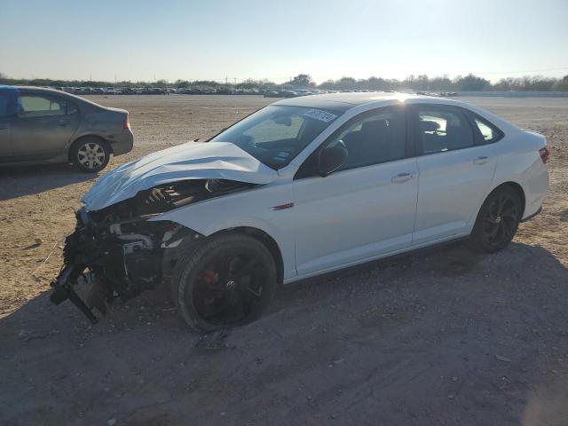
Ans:
[[[270,105],[248,115],[210,142],[232,142],[259,162],[278,170],[287,166],[341,114],[304,106]]]

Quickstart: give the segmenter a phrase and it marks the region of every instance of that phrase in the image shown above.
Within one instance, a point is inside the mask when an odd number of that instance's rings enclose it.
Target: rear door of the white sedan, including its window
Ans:
[[[496,158],[493,145],[479,143],[468,110],[420,104],[409,112],[420,171],[413,241],[421,245],[466,232],[493,180]]]

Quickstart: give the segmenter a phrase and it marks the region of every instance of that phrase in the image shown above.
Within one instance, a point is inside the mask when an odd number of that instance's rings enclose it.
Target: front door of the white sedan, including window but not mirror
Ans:
[[[412,243],[418,170],[403,107],[359,114],[320,146],[343,144],[343,167],[317,174],[316,150],[293,183],[298,275],[324,272]]]

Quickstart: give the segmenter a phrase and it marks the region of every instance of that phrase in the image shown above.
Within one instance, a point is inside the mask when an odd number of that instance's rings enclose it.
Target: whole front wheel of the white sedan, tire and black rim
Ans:
[[[276,282],[270,251],[260,241],[235,233],[188,249],[174,267],[171,289],[185,322],[209,333],[257,319]]]

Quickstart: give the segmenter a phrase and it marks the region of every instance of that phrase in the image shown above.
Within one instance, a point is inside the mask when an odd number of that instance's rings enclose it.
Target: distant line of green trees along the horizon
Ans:
[[[30,86],[63,86],[63,87],[183,87],[211,89],[287,89],[313,88],[321,90],[367,90],[367,91],[568,91],[568,75],[563,78],[549,78],[540,75],[527,75],[520,78],[501,78],[492,83],[477,75],[457,76],[453,79],[447,75],[429,77],[428,75],[410,75],[404,80],[369,77],[355,79],[342,77],[337,80],[327,80],[315,83],[307,74],[296,75],[286,83],[273,83],[269,80],[245,80],[241,83],[219,83],[209,80],[186,81],[157,80],[155,82],[122,81],[110,83],[104,81],[84,80],[51,80],[45,78],[18,79],[10,78],[0,73],[0,84],[30,85]]]

